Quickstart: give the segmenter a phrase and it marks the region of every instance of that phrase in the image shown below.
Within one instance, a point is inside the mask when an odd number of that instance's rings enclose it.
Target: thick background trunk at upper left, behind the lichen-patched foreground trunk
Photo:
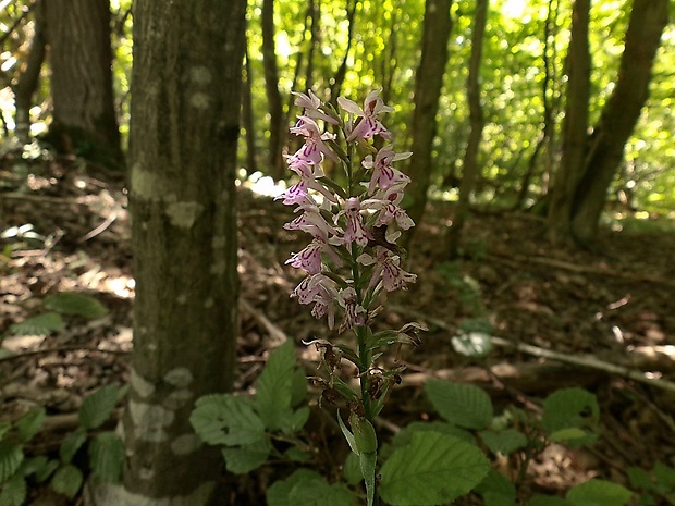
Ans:
[[[47,138],[60,152],[120,168],[109,1],[47,0],[42,9],[53,100]]]

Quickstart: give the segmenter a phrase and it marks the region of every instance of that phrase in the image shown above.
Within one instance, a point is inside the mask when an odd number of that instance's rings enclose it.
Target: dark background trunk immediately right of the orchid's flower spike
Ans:
[[[422,28],[421,57],[415,76],[415,112],[410,132],[413,157],[407,168],[413,180],[406,188],[409,217],[419,224],[427,205],[431,173],[431,150],[435,137],[435,115],[447,63],[447,41],[452,30],[452,0],[427,0]],[[413,229],[414,230],[414,229]],[[410,231],[404,238],[412,240]]]

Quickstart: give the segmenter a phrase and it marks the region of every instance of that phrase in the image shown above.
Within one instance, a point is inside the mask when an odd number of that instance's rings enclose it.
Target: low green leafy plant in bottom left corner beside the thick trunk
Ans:
[[[62,441],[58,456],[33,455],[30,443],[38,435],[47,414],[38,407],[16,422],[0,422],[0,506],[22,506],[30,488],[47,484],[73,499],[87,473],[101,481],[119,482],[124,446],[101,425],[110,418],[126,388],[103,386],[85,397],[79,407],[79,425]]]

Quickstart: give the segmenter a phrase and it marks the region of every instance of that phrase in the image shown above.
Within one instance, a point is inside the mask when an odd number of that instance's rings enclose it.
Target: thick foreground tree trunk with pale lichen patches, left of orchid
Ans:
[[[131,123],[136,299],[124,484],[99,506],[202,506],[222,456],[188,417],[232,385],[236,146],[246,0],[136,0]]]

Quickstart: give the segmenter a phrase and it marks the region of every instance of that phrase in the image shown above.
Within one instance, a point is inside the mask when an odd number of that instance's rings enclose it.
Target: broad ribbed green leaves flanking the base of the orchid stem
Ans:
[[[344,465],[343,479],[328,483],[315,470],[322,458],[320,451],[303,430],[309,417],[306,392],[293,343],[286,342],[270,355],[253,396],[201,397],[191,422],[205,443],[222,448],[230,472],[246,474],[265,465],[296,467],[269,488],[268,506],[353,506],[358,497],[367,499],[359,488],[365,474],[360,460],[364,453],[372,453],[377,435],[357,432],[353,422],[355,432],[349,431],[347,439],[353,453]],[[480,482],[489,471],[489,461],[478,446],[446,428],[422,425],[429,430],[412,430],[406,441],[396,440],[379,462],[378,493],[386,504],[447,504],[468,493],[471,483]]]

